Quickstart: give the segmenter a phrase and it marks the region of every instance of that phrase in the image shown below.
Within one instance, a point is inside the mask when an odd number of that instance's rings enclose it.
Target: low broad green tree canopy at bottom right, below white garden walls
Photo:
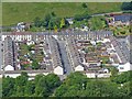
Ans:
[[[85,91],[87,97],[117,97],[119,89],[117,84],[110,81],[94,80],[87,82]]]

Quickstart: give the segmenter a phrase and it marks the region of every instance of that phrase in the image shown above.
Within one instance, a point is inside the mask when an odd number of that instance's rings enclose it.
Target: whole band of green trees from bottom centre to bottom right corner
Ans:
[[[82,86],[85,84],[85,86]],[[122,89],[111,81],[89,80],[80,73],[70,74],[65,81],[55,90],[56,97],[123,97],[131,95],[128,86]]]

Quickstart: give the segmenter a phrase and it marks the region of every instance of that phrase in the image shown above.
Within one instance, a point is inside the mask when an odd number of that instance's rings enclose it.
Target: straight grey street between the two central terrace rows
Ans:
[[[69,59],[68,59],[67,52],[66,52],[66,48],[65,48],[65,45],[66,45],[65,41],[59,41],[58,40],[58,44],[59,44],[59,50],[61,50],[61,54],[62,54],[62,62],[63,62],[63,65],[64,65],[65,74],[69,75],[70,73],[73,73],[73,68],[69,64]]]

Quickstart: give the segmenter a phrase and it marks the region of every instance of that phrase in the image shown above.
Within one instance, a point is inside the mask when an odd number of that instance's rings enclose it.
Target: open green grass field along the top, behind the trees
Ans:
[[[87,8],[82,8],[79,2],[3,2],[2,24],[11,25],[20,21],[32,22],[34,18],[44,18],[50,12],[55,12],[57,16],[74,16],[84,11],[88,11],[90,14],[121,11],[121,2],[88,2]]]

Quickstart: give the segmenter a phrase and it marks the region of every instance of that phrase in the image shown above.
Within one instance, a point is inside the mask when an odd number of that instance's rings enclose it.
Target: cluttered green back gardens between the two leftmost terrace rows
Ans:
[[[21,43],[19,54],[19,58],[23,69],[38,69],[38,64],[43,61],[44,57],[43,50],[36,47],[35,44],[26,45],[24,43]]]

